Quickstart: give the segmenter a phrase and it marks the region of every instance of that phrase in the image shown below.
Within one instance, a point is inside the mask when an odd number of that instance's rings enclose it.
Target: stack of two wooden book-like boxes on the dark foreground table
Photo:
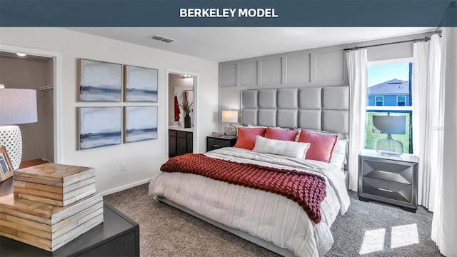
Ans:
[[[0,235],[54,251],[103,222],[94,168],[44,163],[14,171],[0,198]]]

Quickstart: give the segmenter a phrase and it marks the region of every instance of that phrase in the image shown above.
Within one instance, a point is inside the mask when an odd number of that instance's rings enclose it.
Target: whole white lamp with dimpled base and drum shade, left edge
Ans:
[[[22,158],[21,130],[15,125],[36,121],[36,90],[4,89],[0,84],[0,146],[6,148],[14,170],[19,168]]]

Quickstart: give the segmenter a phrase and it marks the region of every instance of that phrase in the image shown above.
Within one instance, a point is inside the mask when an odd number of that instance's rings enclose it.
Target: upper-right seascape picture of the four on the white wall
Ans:
[[[124,101],[157,103],[159,70],[124,65]]]

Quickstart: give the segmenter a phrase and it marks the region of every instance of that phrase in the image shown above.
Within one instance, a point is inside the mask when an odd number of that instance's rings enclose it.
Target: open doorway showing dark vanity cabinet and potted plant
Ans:
[[[196,149],[196,74],[167,69],[167,146],[166,158]]]

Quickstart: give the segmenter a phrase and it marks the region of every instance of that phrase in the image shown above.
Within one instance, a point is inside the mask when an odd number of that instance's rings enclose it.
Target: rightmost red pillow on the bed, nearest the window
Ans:
[[[306,152],[306,159],[330,162],[333,147],[335,147],[336,135],[324,135],[320,133],[311,133],[302,130],[298,142],[311,143]]]

